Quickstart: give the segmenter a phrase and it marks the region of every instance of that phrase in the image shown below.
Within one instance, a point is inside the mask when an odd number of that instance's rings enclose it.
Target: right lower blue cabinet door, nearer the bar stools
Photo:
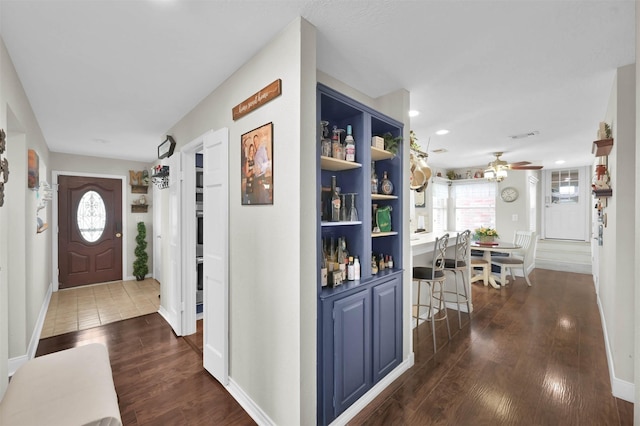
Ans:
[[[402,358],[402,286],[395,277],[373,287],[373,383]]]

